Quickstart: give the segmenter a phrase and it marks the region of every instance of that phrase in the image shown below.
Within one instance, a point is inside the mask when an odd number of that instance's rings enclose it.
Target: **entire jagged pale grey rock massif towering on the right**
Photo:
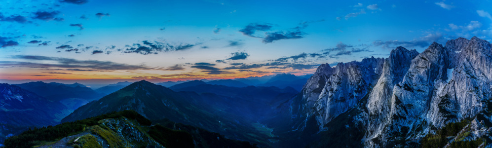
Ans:
[[[387,59],[323,64],[302,93],[305,113],[320,130],[330,130],[341,113],[356,112],[343,117],[362,124],[365,147],[394,147],[488,112],[491,88],[491,43],[473,37],[434,42],[420,54],[397,47]]]

